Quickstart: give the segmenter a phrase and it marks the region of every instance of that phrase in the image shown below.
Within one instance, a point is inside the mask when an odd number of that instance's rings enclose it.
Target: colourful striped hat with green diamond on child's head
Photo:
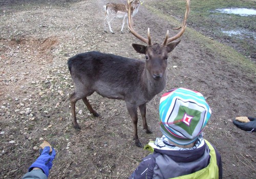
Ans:
[[[203,95],[186,88],[169,91],[160,99],[160,129],[179,145],[188,145],[201,134],[211,110]]]

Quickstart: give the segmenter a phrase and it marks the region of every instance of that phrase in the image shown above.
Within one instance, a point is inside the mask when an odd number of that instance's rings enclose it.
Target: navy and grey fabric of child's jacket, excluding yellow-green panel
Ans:
[[[204,142],[204,141],[203,141]],[[166,146],[175,147],[165,143]],[[219,178],[222,178],[222,162],[219,152],[215,149],[217,165],[219,167]],[[204,144],[189,150],[162,150],[154,148],[154,152],[139,164],[130,178],[173,178],[199,171],[209,164],[209,148]]]

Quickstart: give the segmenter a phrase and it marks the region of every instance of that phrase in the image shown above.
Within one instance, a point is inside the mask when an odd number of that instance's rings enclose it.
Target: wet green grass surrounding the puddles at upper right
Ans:
[[[148,9],[154,8],[169,16],[183,19],[185,12],[185,0],[157,1],[147,3]],[[224,14],[215,11],[217,8],[249,8],[256,9],[255,1],[190,1],[190,12],[187,20],[188,27],[202,32],[204,35],[217,39],[221,43],[228,44],[241,54],[256,60],[255,36],[256,16],[239,16]],[[238,31],[240,35],[223,33],[223,31]]]

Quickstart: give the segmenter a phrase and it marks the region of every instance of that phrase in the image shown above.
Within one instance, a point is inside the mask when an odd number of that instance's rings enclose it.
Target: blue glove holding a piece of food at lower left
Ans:
[[[54,148],[52,148],[52,152],[50,153],[50,147],[45,147],[44,150],[42,150],[40,156],[29,167],[29,171],[31,171],[34,167],[38,167],[48,177],[49,170],[52,168],[52,161],[54,160],[55,155],[56,155],[56,151],[54,150]]]

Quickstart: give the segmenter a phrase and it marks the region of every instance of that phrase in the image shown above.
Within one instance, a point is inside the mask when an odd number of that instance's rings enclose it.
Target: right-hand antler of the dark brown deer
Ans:
[[[166,36],[165,36],[165,40],[163,42],[163,46],[166,46],[166,44],[180,38],[182,36],[182,34],[185,32],[185,29],[186,29],[186,21],[187,21],[187,16],[188,16],[188,12],[189,12],[189,7],[190,7],[190,0],[186,0],[186,12],[185,12],[185,15],[184,15],[184,19],[183,19],[183,24],[182,24],[182,27],[181,27],[181,30],[178,34],[176,34],[175,36],[173,37],[170,37],[168,38],[167,36],[167,33],[166,33]]]

